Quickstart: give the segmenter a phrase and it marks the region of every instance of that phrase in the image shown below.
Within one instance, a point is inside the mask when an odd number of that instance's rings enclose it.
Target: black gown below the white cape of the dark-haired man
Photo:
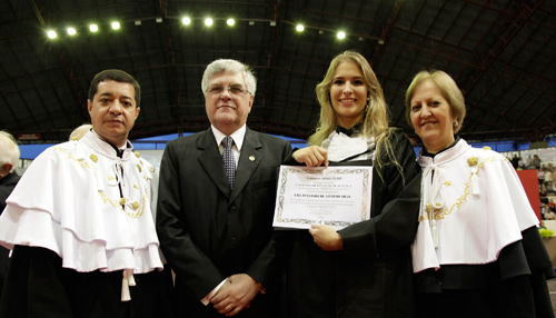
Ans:
[[[170,318],[171,272],[133,275],[130,301],[121,301],[122,271],[78,272],[40,247],[16,246],[1,318]]]

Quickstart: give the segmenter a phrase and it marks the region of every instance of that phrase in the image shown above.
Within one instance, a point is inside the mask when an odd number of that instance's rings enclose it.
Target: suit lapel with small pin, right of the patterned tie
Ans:
[[[241,193],[244,188],[251,179],[252,173],[262,160],[262,143],[257,133],[247,128],[245,133],[244,145],[241,146],[241,155],[239,156],[238,168],[236,172],[236,182],[231,191],[230,201]]]

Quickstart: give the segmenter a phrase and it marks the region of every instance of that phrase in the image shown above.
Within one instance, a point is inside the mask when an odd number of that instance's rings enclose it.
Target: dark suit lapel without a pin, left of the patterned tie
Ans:
[[[205,130],[205,133],[197,140],[197,149],[201,152],[199,156],[201,167],[205,168],[205,171],[207,171],[207,175],[209,175],[218,189],[229,197],[230,186],[224,171],[222,156],[210,128]]]

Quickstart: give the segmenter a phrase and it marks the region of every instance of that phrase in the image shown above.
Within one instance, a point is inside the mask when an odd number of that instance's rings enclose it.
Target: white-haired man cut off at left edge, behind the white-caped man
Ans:
[[[6,199],[10,196],[19,181],[16,166],[19,162],[19,147],[10,133],[0,131],[0,215],[6,208]],[[10,251],[0,246],[0,298],[2,298],[2,287],[8,272]]]

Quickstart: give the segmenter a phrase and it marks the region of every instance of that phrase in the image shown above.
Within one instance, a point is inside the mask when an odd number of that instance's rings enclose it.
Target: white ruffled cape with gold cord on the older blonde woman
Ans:
[[[423,168],[419,226],[413,246],[414,272],[443,265],[484,265],[538,225],[512,163],[463,139]]]

